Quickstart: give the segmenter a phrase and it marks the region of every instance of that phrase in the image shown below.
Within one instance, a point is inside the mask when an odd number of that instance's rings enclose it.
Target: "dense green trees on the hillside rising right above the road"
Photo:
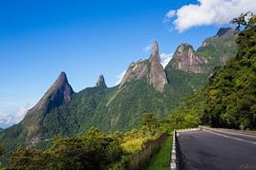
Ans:
[[[256,129],[256,16],[247,12],[232,23],[238,25],[237,56],[216,68],[209,84],[172,112],[178,128],[209,124]]]

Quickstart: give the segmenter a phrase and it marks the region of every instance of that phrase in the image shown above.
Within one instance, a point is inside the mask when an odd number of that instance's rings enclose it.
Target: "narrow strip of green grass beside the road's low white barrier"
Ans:
[[[149,161],[146,170],[169,170],[171,159],[172,136],[167,137],[160,147],[160,151],[156,153]]]

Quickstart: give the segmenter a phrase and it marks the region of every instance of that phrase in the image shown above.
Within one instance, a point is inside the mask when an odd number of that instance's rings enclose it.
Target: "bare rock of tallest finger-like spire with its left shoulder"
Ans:
[[[148,84],[153,85],[160,92],[164,90],[164,85],[167,84],[166,74],[160,65],[159,45],[156,41],[153,43],[152,54],[148,60],[131,63],[119,88],[126,83],[138,81],[142,78],[146,78]]]

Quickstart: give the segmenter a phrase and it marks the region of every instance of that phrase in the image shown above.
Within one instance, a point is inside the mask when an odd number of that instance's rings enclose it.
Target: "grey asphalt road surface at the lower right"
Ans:
[[[222,131],[181,132],[181,170],[256,170],[256,137]]]

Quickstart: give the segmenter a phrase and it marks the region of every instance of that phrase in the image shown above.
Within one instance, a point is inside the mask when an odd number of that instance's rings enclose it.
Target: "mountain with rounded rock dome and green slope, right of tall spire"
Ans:
[[[172,108],[194,91],[203,88],[216,66],[224,66],[228,59],[235,57],[236,38],[234,29],[220,28],[215,36],[205,39],[196,51],[188,44],[177,47],[173,59],[165,67],[168,79],[166,93],[169,94],[167,100]]]

